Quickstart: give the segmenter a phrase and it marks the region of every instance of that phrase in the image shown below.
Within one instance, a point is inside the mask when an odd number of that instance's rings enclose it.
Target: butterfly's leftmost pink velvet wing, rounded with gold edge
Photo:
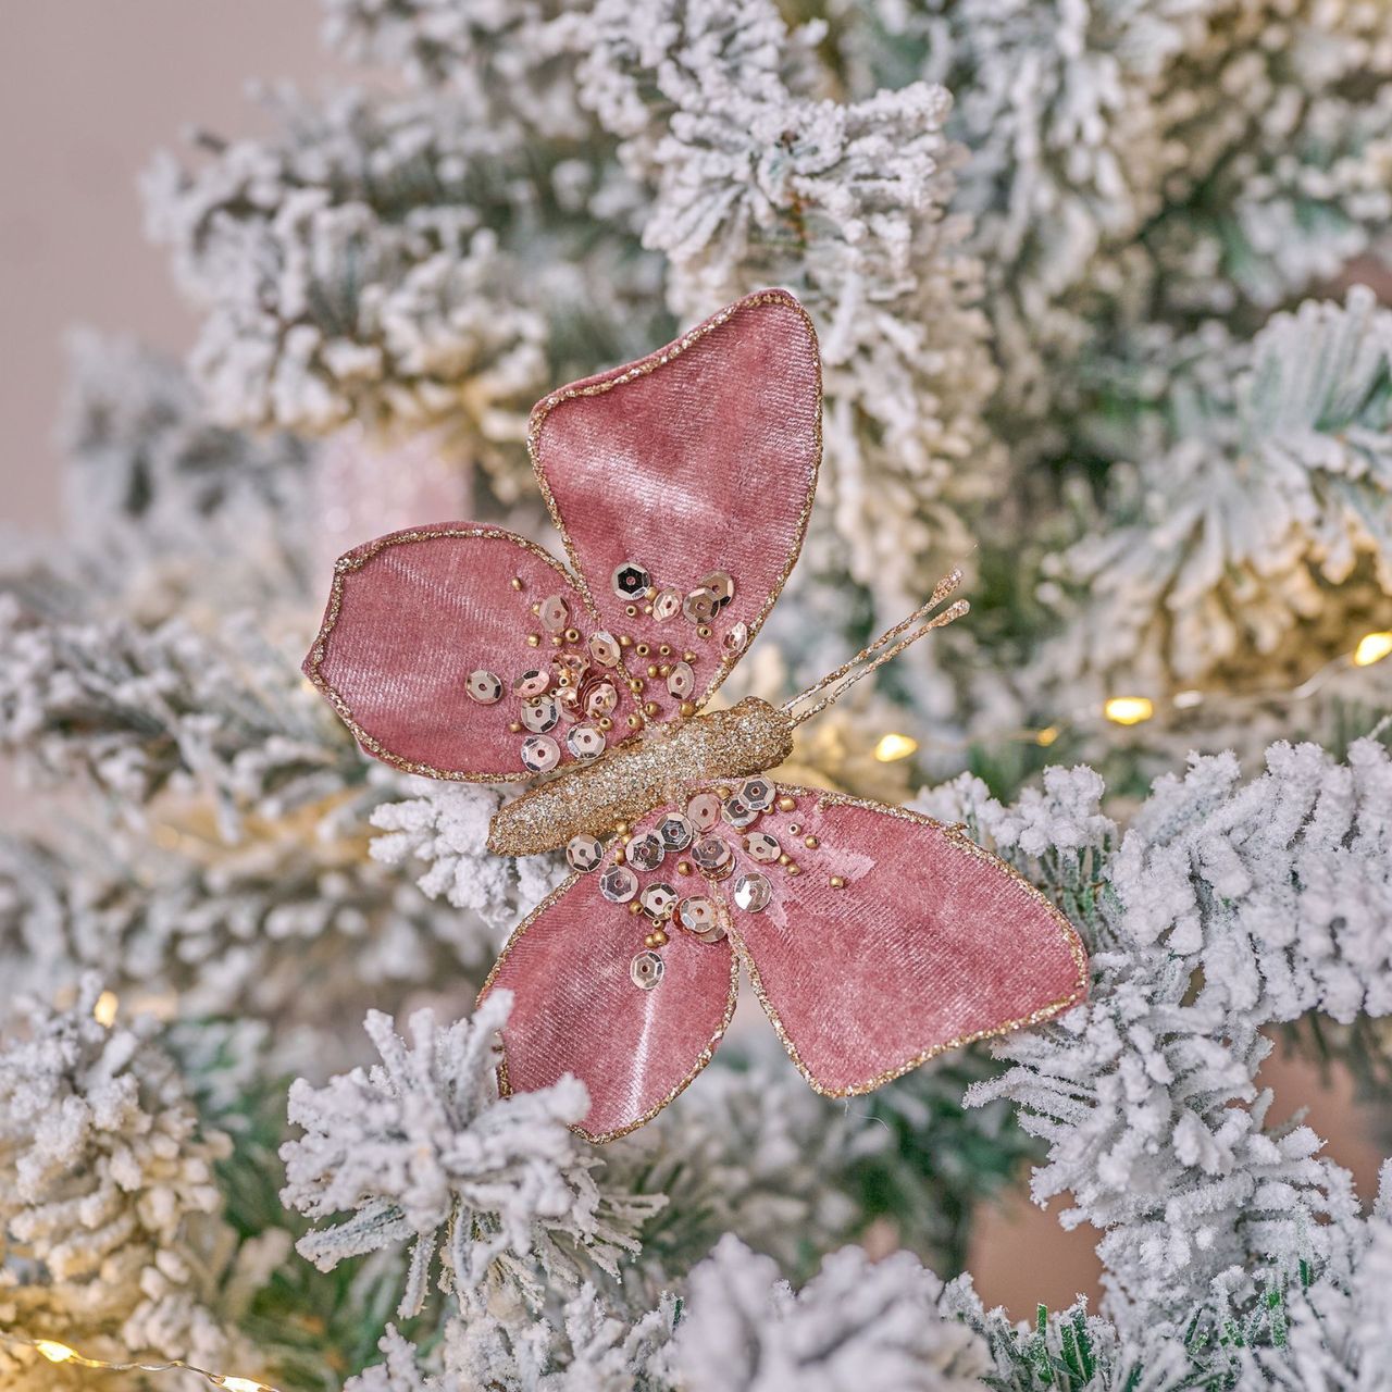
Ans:
[[[567,642],[562,629],[561,649],[532,608],[555,599],[578,635]],[[533,735],[554,742],[558,761],[574,757],[569,721],[511,728],[522,713],[514,681],[587,651],[596,628],[567,569],[539,546],[450,522],[394,532],[338,560],[305,674],[370,754],[432,778],[511,781],[537,771],[522,760]],[[496,699],[469,695],[475,672],[496,677]],[[592,671],[589,690],[603,675]],[[631,697],[617,670],[608,685],[617,729]]]

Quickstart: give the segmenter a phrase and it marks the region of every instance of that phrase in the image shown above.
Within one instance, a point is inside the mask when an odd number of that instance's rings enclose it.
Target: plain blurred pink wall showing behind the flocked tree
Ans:
[[[245,100],[251,78],[313,89],[347,74],[319,49],[312,0],[65,0],[11,4],[4,18],[3,521],[52,530],[64,333],[84,323],[171,351],[192,338],[193,319],[164,256],[142,237],[135,181],[150,153],[175,143],[191,122],[231,134],[262,129]],[[1279,1059],[1270,1075],[1275,1115],[1308,1105],[1314,1128],[1335,1137],[1335,1157],[1353,1168],[1360,1194],[1371,1196],[1378,1155],[1346,1080],[1322,1090],[1314,1069]],[[1094,1242],[1090,1229],[1065,1233],[1019,1196],[981,1225],[972,1260],[977,1289],[1019,1318],[1033,1315],[1036,1302],[1059,1307],[1075,1292],[1096,1297]]]

